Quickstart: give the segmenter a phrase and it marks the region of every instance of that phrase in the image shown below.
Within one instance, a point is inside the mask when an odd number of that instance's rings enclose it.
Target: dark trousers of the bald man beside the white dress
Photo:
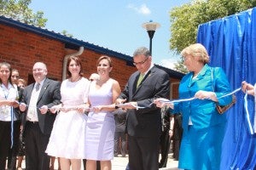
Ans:
[[[24,137],[26,170],[49,170],[49,156],[45,153],[49,134],[41,132],[38,122],[26,122]]]

